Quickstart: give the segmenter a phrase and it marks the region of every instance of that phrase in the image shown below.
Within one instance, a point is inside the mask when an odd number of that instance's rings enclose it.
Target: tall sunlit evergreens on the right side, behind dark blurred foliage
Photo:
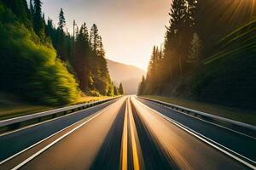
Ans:
[[[165,42],[161,47],[154,46],[147,76],[142,78],[138,94],[165,94],[168,91],[166,88],[177,85],[177,80],[193,77],[192,81],[183,82],[183,85],[187,86],[189,83],[192,93],[205,93],[201,99],[210,95],[209,90],[202,92],[203,88],[197,83],[203,82],[208,73],[203,72],[207,67],[204,61],[223,50],[218,48],[218,42],[224,36],[255,20],[256,11],[251,3],[242,0],[227,0],[225,3],[222,0],[173,0],[169,26],[166,26]],[[232,61],[230,59],[230,63]],[[218,65],[215,66],[218,68]],[[199,80],[200,74],[204,76]],[[216,72],[215,75],[211,75],[212,83],[216,80],[213,78],[216,75]],[[207,76],[210,77],[210,74]],[[224,77],[218,75],[220,76]],[[226,79],[228,80],[228,77]],[[224,83],[223,87],[229,88],[226,84]],[[199,93],[195,93],[195,96],[200,98]]]

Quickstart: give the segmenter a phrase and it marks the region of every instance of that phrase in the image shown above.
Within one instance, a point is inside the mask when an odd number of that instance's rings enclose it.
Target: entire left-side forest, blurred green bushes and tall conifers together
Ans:
[[[1,1],[0,22],[1,90],[53,105],[71,103],[81,92],[124,94],[121,84],[113,86],[96,25],[88,31],[74,21],[71,35],[62,8],[55,27],[45,20],[41,0]]]

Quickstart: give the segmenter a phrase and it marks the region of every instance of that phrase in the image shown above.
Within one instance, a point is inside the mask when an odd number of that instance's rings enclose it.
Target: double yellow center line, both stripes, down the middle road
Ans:
[[[128,134],[130,139],[128,139]],[[131,141],[131,157],[128,156],[128,141]],[[139,160],[139,153],[141,152],[141,147],[137,137],[137,129],[134,122],[134,117],[131,111],[131,99],[130,97],[126,100],[125,107],[125,122],[123,128],[123,137],[122,137],[122,150],[121,150],[121,168],[122,170],[128,169],[128,162],[132,161],[132,166],[134,170],[141,169],[142,160]],[[128,161],[129,160],[129,161]]]

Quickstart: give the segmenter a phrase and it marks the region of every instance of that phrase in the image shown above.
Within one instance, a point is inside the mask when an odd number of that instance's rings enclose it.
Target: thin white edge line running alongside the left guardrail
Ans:
[[[55,120],[57,120],[57,119],[60,119],[60,118],[66,117],[66,116],[73,116],[74,114],[77,114],[77,113],[79,113],[79,112],[87,111],[87,110],[93,109],[93,108],[95,108],[95,107],[97,107],[97,106],[104,105],[104,104],[108,104],[108,103],[110,103],[111,101],[114,101],[114,99],[113,99],[113,100],[110,100],[110,101],[107,101],[107,102],[104,102],[104,103],[99,104],[99,105],[94,105],[94,106],[92,106],[92,107],[85,108],[84,110],[81,110],[81,111],[75,111],[75,112],[73,112],[73,113],[70,113],[70,114],[67,114],[67,115],[63,115],[63,116],[58,116],[58,117],[55,117],[55,118],[53,118],[53,119],[49,119],[49,120],[44,121],[44,122],[38,122],[38,123],[32,124],[32,125],[30,125],[30,126],[21,127],[21,128],[19,128],[19,129],[14,130],[14,131],[11,131],[11,132],[2,133],[2,134],[0,134],[0,138],[3,137],[3,136],[5,136],[5,135],[11,134],[11,133],[16,133],[16,132],[19,132],[19,131],[21,131],[21,130],[25,130],[25,129],[27,129],[27,128],[31,128],[31,127],[38,126],[38,125],[40,125],[40,124],[44,124],[44,123],[46,123],[46,122],[55,121]],[[0,163],[0,165],[1,165],[1,163]]]

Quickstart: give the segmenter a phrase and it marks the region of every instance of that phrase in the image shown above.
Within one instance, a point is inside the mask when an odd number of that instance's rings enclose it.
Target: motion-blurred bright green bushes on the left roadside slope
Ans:
[[[1,89],[49,105],[75,101],[79,97],[77,83],[55,58],[55,49],[41,44],[1,4],[0,16]]]

